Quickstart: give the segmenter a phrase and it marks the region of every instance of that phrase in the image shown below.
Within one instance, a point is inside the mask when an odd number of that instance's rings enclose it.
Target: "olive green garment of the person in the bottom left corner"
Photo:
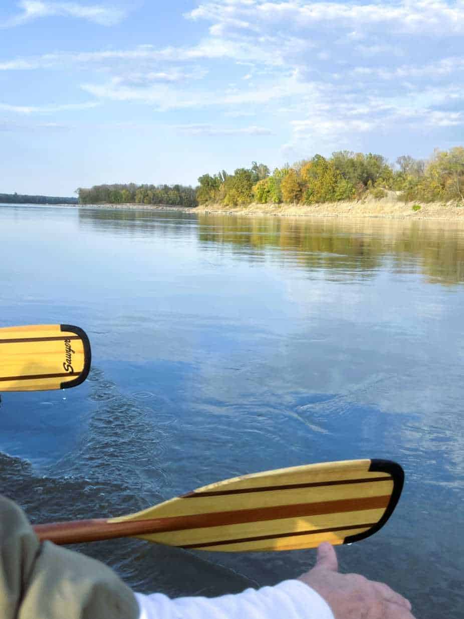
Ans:
[[[1,619],[138,619],[134,593],[108,567],[40,543],[25,514],[0,496]]]

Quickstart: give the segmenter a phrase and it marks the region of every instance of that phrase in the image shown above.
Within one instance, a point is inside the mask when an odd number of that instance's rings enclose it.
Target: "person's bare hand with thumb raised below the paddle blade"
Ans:
[[[414,619],[411,604],[383,582],[359,574],[339,574],[337,555],[328,542],[317,548],[317,562],[299,581],[322,595],[335,619]]]

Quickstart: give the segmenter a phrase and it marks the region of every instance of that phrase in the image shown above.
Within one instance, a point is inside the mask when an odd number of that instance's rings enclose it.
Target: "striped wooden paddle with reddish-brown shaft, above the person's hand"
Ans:
[[[129,516],[34,529],[58,544],[140,537],[226,552],[351,543],[384,526],[403,479],[402,467],[387,460],[308,464],[213,483]]]

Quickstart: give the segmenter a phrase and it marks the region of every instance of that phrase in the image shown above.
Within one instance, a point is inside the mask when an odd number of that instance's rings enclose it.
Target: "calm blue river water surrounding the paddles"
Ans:
[[[462,618],[464,227],[0,207],[0,326],[65,322],[93,367],[2,395],[1,491],[35,521],[130,513],[234,475],[389,458],[387,526],[338,550],[418,619]],[[66,394],[66,397],[63,397]],[[139,591],[272,584],[314,551],[83,545]]]

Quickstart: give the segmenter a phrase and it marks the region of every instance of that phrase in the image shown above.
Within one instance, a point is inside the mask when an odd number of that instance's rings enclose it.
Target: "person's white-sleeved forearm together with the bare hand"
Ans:
[[[136,594],[139,619],[414,619],[411,604],[383,582],[339,574],[329,543],[314,568],[275,587],[216,598]]]

